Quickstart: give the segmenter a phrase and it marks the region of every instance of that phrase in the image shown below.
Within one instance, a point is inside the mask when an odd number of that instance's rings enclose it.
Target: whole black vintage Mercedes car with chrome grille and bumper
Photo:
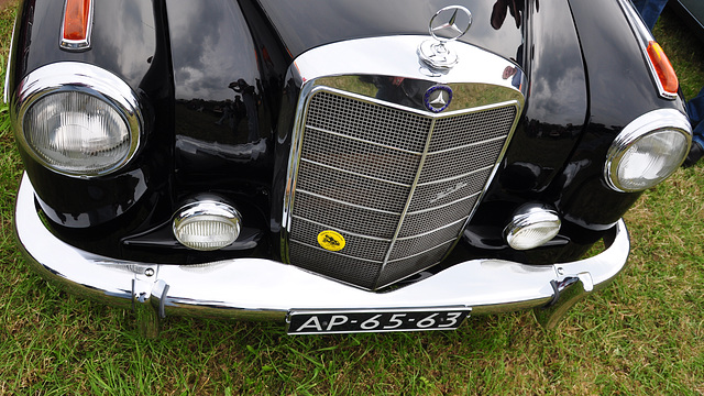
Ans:
[[[151,336],[554,327],[691,144],[628,0],[25,0],[6,100],[28,262]]]

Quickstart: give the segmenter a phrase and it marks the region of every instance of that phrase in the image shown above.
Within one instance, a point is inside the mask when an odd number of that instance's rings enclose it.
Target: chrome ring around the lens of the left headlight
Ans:
[[[26,130],[25,117],[43,100],[67,92],[92,97],[107,105],[107,109],[117,112],[129,134],[128,147],[122,155],[105,166],[79,169],[51,163],[37,152],[28,139],[30,132]],[[13,100],[12,120],[18,143],[33,160],[57,174],[70,177],[102,176],[123,167],[138,152],[144,130],[142,105],[130,86],[106,69],[77,62],[50,64],[24,77]]]

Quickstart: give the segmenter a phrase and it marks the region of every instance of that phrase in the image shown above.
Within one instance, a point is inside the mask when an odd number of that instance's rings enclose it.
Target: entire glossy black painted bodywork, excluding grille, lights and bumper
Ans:
[[[474,23],[462,41],[513,59],[529,81],[499,172],[446,265],[486,256],[551,263],[582,254],[639,196],[603,182],[614,136],[649,110],[682,107],[644,84],[650,75],[634,34],[607,0],[96,0],[92,50],[82,53],[58,48],[62,4],[24,1],[10,87],[48,63],[105,67],[143,99],[146,145],[119,174],[91,180],[58,176],[23,157],[56,234],[127,260],[275,257],[300,82],[285,79],[293,58],[339,40],[425,35],[429,18],[444,6],[472,10]],[[223,117],[237,97],[243,108]],[[201,193],[244,215],[243,238],[233,246],[201,253],[175,242],[172,215]],[[565,221],[546,246],[516,252],[502,231],[526,201],[549,204]]]

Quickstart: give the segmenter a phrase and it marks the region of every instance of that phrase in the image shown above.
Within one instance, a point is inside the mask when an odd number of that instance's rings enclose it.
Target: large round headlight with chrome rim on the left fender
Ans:
[[[21,84],[19,142],[43,166],[72,176],[97,176],[124,165],[139,146],[136,97],[117,76],[92,65],[58,63]]]

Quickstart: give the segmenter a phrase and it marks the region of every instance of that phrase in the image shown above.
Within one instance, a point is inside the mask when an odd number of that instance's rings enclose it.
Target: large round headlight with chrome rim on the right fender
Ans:
[[[650,188],[672,175],[692,144],[692,128],[672,109],[646,113],[616,136],[604,167],[609,187],[630,193]]]

